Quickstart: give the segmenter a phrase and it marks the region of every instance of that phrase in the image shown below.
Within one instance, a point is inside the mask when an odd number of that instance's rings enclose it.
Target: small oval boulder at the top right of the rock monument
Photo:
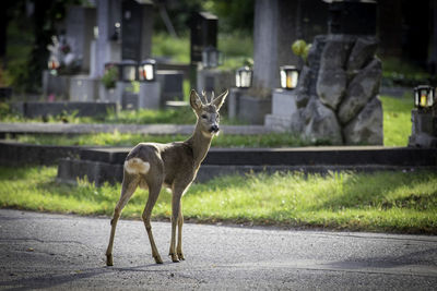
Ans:
[[[377,48],[378,40],[375,37],[359,37],[349,56],[347,71],[356,73],[362,70],[373,60]]]

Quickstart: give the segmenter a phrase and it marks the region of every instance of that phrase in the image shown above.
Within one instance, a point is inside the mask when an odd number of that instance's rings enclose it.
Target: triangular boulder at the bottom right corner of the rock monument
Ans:
[[[343,130],[345,143],[351,145],[382,145],[382,105],[377,97]]]

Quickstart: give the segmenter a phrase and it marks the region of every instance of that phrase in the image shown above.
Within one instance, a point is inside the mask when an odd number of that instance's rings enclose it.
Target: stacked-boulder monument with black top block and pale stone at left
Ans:
[[[354,35],[349,31],[353,26],[347,25],[357,17],[375,21],[376,3],[345,3],[352,4],[354,12],[364,5],[365,13],[347,19],[342,13],[350,12],[351,7],[331,8],[331,33],[315,37],[297,87],[273,93],[273,110],[265,124],[302,133],[311,142],[381,145],[382,106],[377,95],[382,69],[375,57],[378,44],[375,26],[368,25],[368,31],[357,26],[359,35]],[[343,33],[342,27],[347,32]]]

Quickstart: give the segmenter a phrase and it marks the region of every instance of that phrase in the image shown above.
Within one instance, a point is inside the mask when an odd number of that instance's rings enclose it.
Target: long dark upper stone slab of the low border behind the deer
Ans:
[[[122,163],[129,148],[88,148],[81,159]],[[437,166],[436,148],[412,147],[296,147],[211,148],[203,165],[217,166]]]

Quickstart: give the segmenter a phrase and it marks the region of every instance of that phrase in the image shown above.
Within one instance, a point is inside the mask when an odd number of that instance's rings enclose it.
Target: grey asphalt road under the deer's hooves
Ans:
[[[186,260],[167,257],[170,226],[0,209],[1,290],[436,290],[437,237],[186,223]]]

